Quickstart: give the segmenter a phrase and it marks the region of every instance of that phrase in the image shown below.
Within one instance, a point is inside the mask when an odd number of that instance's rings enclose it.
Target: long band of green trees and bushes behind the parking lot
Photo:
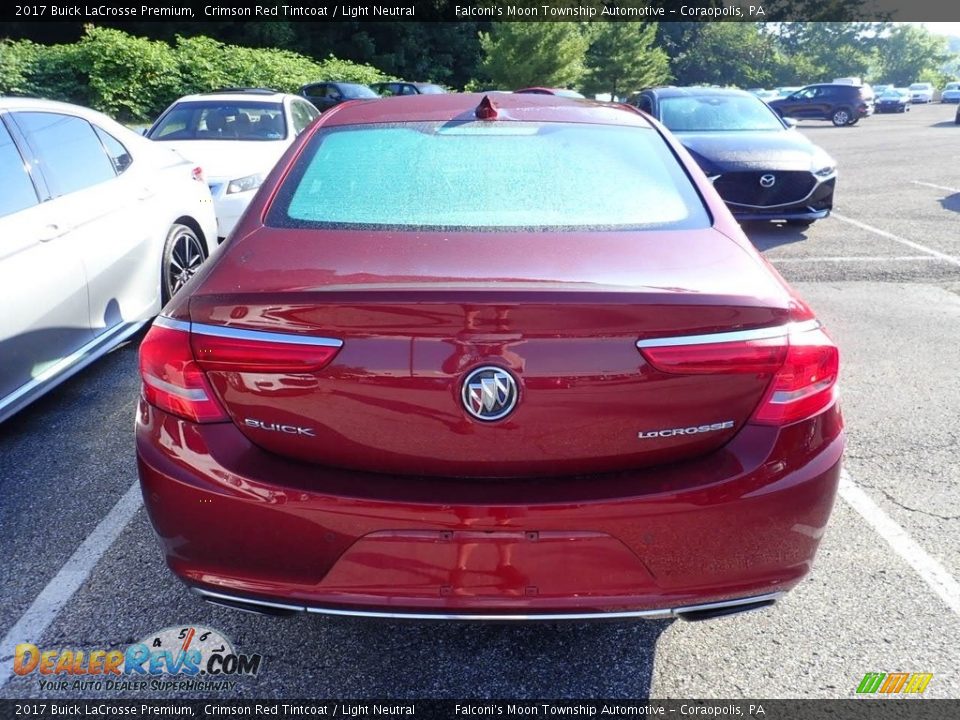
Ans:
[[[960,41],[889,22],[10,23],[4,32],[22,39],[0,40],[0,94],[77,102],[124,120],[151,119],[188,92],[295,91],[316,80],[624,97],[665,82],[774,87],[858,76],[942,86],[960,73]]]

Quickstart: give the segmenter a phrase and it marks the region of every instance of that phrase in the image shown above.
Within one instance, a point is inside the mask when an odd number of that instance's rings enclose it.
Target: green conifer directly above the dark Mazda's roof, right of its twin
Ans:
[[[656,39],[656,23],[596,24],[587,50],[584,90],[609,93],[616,99],[670,80],[669,58],[656,46]]]

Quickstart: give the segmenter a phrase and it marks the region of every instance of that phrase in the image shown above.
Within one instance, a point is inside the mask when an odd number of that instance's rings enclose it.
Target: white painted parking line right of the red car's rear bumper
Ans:
[[[907,531],[897,525],[870,496],[861,490],[846,470],[840,471],[840,497],[860,513],[893,551],[912,567],[927,586],[957,615],[960,615],[960,583],[947,569],[927,554]]]

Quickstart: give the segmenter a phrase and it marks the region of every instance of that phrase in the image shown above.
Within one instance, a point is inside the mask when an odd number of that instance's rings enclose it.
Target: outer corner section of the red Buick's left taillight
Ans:
[[[161,410],[197,423],[229,419],[194,360],[186,323],[157,318],[140,343],[140,379],[144,398]]]

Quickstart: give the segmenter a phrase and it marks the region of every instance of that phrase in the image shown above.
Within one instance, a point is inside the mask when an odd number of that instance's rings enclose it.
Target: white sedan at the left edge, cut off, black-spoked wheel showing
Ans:
[[[195,163],[87,108],[0,98],[0,421],[133,335],[216,247]]]

